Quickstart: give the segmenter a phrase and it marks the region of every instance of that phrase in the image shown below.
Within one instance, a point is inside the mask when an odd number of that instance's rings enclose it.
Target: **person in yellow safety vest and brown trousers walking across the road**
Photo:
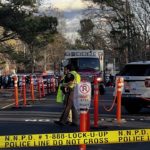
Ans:
[[[58,125],[65,125],[67,123],[68,115],[70,110],[72,110],[72,124],[73,126],[78,125],[78,113],[73,105],[73,94],[74,87],[81,80],[80,75],[75,71],[72,65],[68,65],[67,68],[70,70],[68,74],[65,76],[65,84],[62,86],[62,91],[66,92],[66,103],[64,111],[59,119],[59,121],[55,121]]]

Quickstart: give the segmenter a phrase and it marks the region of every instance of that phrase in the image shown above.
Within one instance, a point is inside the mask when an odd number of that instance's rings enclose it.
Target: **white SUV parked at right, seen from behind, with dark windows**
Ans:
[[[128,63],[118,75],[124,78],[122,105],[129,113],[150,105],[150,61]]]

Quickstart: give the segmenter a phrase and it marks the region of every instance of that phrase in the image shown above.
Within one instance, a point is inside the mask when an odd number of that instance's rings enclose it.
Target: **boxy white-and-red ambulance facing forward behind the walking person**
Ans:
[[[91,83],[94,93],[94,79],[98,81],[100,95],[105,94],[104,74],[104,51],[103,50],[66,50],[63,66],[72,64],[81,80]]]

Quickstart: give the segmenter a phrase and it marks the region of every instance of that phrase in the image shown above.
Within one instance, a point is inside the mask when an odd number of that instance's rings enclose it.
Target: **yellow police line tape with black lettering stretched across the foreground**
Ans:
[[[150,129],[0,136],[0,148],[149,142]]]

